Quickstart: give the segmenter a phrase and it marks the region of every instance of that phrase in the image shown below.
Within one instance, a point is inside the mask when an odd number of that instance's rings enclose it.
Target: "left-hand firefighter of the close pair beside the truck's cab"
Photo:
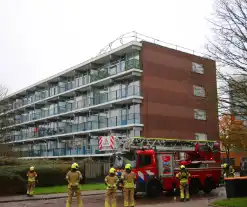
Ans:
[[[118,177],[116,175],[116,170],[114,168],[111,168],[109,170],[109,175],[107,175],[105,178],[105,184],[107,186],[105,207],[117,206],[117,201],[116,201],[117,183],[118,183]],[[110,205],[110,202],[112,202],[112,205]]]

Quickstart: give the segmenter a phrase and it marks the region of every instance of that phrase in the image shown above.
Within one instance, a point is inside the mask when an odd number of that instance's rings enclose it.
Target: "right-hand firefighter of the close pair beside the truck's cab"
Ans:
[[[123,180],[124,207],[134,207],[136,175],[131,172],[130,164],[125,165],[125,171],[123,172],[121,179]]]

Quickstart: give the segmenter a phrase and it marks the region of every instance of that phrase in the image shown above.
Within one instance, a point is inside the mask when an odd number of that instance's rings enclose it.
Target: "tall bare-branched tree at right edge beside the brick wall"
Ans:
[[[218,63],[219,111],[247,115],[247,0],[215,0],[209,56]]]

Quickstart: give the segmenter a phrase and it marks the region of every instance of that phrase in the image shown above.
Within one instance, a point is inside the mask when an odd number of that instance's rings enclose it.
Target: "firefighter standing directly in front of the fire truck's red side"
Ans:
[[[184,201],[184,194],[186,200],[190,199],[189,193],[189,177],[190,173],[186,170],[184,165],[180,166],[180,172],[176,174],[176,177],[179,179],[180,182],[180,201]]]

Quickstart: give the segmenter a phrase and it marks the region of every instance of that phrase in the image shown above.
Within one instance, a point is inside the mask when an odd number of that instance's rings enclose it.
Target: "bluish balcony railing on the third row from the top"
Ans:
[[[87,121],[78,124],[67,123],[64,127],[38,127],[36,131],[28,131],[20,134],[10,135],[6,137],[6,142],[20,141],[30,138],[40,138],[47,136],[57,136],[68,133],[84,132],[90,130],[97,130],[110,127],[125,126],[130,124],[140,124],[141,117],[140,113],[127,114],[125,116],[115,117],[94,117],[97,120]]]

